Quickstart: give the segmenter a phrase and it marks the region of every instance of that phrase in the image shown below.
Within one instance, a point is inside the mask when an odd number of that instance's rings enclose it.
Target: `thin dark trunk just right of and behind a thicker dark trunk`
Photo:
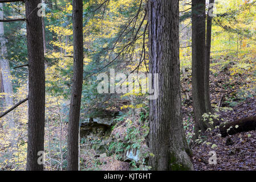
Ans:
[[[212,113],[212,105],[210,102],[210,48],[212,42],[212,15],[209,14],[213,9],[214,0],[209,1],[207,27],[206,27],[206,47],[205,47],[205,107],[207,113]]]

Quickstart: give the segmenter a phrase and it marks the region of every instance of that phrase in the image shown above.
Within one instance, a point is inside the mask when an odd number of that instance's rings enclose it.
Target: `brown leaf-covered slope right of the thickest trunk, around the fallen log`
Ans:
[[[248,79],[248,77],[255,77],[255,73],[234,77],[229,73],[230,67],[231,65],[226,65],[224,69],[219,69],[220,72],[217,73],[217,76],[210,77],[211,100],[217,108],[214,114],[219,115],[220,122],[231,122],[256,115],[255,94],[246,94],[247,91],[242,93],[242,90],[247,90],[245,88],[254,84],[249,81],[253,79]],[[182,87],[191,87],[190,81],[187,83],[189,84],[182,84]],[[191,93],[189,96],[192,97]],[[184,121],[187,121],[185,122],[186,134],[189,137],[193,135],[194,125],[192,101],[184,105],[182,110]],[[230,138],[232,142],[226,143],[227,138]],[[208,162],[211,157],[209,156],[210,151],[216,152],[216,165],[210,165]],[[220,130],[214,129],[202,134],[201,143],[192,146],[192,152],[194,169],[198,171],[256,170],[256,131],[242,132],[222,138]]]

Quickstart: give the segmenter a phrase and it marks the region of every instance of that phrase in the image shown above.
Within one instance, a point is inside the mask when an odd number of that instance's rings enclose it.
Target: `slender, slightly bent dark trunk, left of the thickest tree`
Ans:
[[[83,86],[83,0],[73,0],[74,75],[68,119],[68,166],[78,171],[78,133]]]

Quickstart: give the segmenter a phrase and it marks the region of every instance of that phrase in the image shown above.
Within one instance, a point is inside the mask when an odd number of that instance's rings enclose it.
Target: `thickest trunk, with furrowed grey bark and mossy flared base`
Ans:
[[[149,101],[154,154],[149,165],[153,170],[193,169],[181,117],[178,0],[149,0],[148,14],[149,73],[159,73],[159,97]]]

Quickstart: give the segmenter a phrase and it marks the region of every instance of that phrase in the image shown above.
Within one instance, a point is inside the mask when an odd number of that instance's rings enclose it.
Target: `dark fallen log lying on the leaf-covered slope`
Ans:
[[[238,119],[237,121],[224,123],[220,126],[221,137],[234,135],[256,129],[256,116]]]

